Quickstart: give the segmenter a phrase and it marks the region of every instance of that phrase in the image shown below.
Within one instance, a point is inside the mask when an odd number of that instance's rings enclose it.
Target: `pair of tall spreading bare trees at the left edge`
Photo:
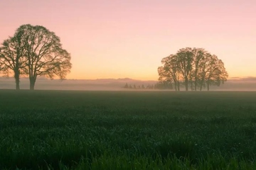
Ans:
[[[21,75],[29,77],[31,90],[39,76],[65,79],[72,67],[70,59],[60,38],[43,26],[22,25],[0,46],[0,72],[14,75],[16,89]]]

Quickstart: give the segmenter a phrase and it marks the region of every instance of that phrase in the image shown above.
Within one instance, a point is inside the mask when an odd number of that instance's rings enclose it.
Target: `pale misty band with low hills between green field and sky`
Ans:
[[[36,81],[35,89],[38,90],[79,90],[79,91],[129,91],[124,89],[125,84],[136,86],[154,85],[158,81],[141,81],[136,79],[46,79],[39,77]],[[13,77],[1,77],[0,89],[15,89]],[[28,78],[21,78],[21,89],[29,89]],[[139,89],[136,89],[139,90]],[[146,90],[146,89],[144,89]],[[184,90],[183,88],[181,89]],[[204,89],[206,90],[206,89]],[[220,86],[210,86],[210,91],[256,91],[256,77],[232,77]]]

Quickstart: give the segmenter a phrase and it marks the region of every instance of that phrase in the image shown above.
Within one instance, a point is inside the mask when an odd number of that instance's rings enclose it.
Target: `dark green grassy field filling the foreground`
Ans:
[[[255,92],[0,91],[0,169],[256,169]]]

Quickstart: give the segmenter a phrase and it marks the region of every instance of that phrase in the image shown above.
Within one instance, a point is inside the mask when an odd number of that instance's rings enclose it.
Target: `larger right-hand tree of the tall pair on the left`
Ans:
[[[70,54],[63,49],[60,38],[43,26],[20,26],[21,42],[26,51],[26,74],[33,90],[38,76],[65,79],[70,72]]]

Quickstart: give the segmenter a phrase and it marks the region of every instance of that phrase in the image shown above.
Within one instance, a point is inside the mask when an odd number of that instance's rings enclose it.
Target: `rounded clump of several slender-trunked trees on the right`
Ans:
[[[163,66],[158,68],[159,84],[174,86],[180,91],[202,90],[211,85],[220,86],[228,79],[224,63],[216,55],[211,55],[203,48],[186,47],[161,60]]]

